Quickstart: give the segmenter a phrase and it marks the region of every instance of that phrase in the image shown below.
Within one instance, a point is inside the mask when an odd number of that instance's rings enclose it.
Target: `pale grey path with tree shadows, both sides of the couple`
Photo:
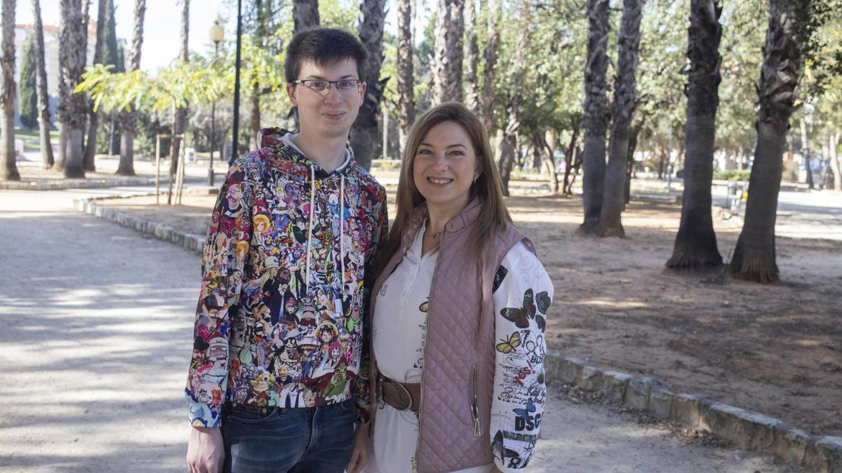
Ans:
[[[72,210],[145,189],[0,191],[0,470],[184,471],[199,259]],[[550,401],[533,471],[797,471]]]

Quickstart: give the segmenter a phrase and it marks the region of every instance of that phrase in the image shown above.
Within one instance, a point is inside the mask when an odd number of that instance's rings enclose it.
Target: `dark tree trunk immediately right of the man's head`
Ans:
[[[363,0],[363,18],[357,32],[368,56],[365,60],[365,98],[360,114],[351,125],[351,148],[360,166],[371,166],[371,148],[377,141],[377,112],[383,98],[385,82],[380,80],[383,64],[383,20],[386,19],[386,0]]]

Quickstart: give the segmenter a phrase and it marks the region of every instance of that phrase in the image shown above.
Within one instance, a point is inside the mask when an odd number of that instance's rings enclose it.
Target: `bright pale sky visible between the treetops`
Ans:
[[[117,38],[131,40],[131,28],[134,24],[134,0],[114,0],[117,20]],[[16,24],[33,24],[30,2],[17,2]],[[97,2],[91,2],[91,19],[97,19]],[[386,29],[397,31],[396,12],[391,11],[386,17]],[[217,15],[226,20],[225,37],[232,40],[237,28],[235,7],[226,7],[223,0],[193,0],[190,2],[189,48],[191,51],[210,52],[213,43],[208,38],[208,30],[213,26]],[[61,18],[59,0],[41,0],[41,18],[45,25],[59,25]],[[168,66],[179,54],[181,7],[175,0],[147,0],[147,13],[143,24],[143,50],[141,50],[141,69],[156,71]]]

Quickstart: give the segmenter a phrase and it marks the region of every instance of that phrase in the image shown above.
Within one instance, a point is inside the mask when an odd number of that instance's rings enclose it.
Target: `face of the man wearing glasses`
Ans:
[[[301,63],[301,72],[296,77],[297,80],[326,81],[359,78],[357,62],[354,59],[344,59],[325,66],[304,61]],[[348,136],[348,130],[360,111],[365,97],[365,82],[360,84],[359,90],[352,90],[350,93],[340,93],[336,84],[331,84],[330,88],[322,92],[314,91],[303,84],[287,84],[286,93],[290,96],[292,104],[298,107],[301,130],[307,135],[343,138]]]

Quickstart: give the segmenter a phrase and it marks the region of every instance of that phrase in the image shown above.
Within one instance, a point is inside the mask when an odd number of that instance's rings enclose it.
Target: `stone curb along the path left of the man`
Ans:
[[[125,195],[122,196],[122,198],[128,199],[130,197],[137,197],[138,195],[155,195],[155,193]],[[76,210],[80,212],[93,215],[105,221],[114,222],[120,226],[125,226],[131,228],[132,230],[146,233],[147,235],[152,235],[152,237],[156,237],[159,240],[171,242],[179,247],[201,254],[202,249],[205,247],[204,235],[194,235],[192,233],[178,231],[172,226],[163,225],[163,223],[155,221],[148,221],[147,219],[131,215],[127,212],[111,209],[104,205],[98,205],[95,202],[97,199],[120,198],[121,197],[119,196],[107,196],[94,197],[92,199],[75,199],[73,201],[73,205],[76,207]]]

